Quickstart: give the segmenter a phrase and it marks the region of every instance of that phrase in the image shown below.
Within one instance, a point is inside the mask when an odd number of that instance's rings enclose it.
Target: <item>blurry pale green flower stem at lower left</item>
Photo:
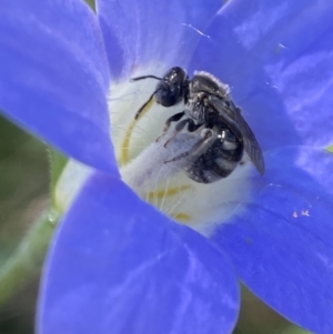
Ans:
[[[59,214],[41,213],[14,253],[0,269],[0,306],[9,301],[41,270]]]

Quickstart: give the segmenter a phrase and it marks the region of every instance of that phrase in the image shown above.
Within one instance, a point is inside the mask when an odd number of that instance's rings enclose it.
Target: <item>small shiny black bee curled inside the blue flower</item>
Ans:
[[[167,120],[164,132],[171,122],[178,122],[175,132],[188,125],[189,132],[203,133],[198,144],[185,154],[189,163],[184,171],[190,179],[212,183],[226,178],[241,163],[244,150],[259,173],[264,174],[261,148],[241,115],[241,110],[231,100],[226,84],[208,72],[195,72],[189,79],[186,72],[179,67],[170,69],[163,78],[145,75],[133,80],[147,78],[158,79],[159,83],[135,119],[152,99],[163,107],[184,102],[184,110]],[[182,158],[184,154],[175,156],[173,161]]]

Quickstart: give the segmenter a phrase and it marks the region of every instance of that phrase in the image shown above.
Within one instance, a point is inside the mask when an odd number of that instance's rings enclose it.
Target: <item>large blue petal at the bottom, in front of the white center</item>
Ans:
[[[94,175],[49,255],[39,333],[231,333],[239,286],[224,256],[121,181]]]

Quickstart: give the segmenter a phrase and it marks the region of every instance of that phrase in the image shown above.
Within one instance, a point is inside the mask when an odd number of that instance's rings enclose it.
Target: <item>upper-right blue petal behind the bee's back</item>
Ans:
[[[216,16],[193,55],[231,84],[263,149],[333,141],[330,1],[239,0]]]

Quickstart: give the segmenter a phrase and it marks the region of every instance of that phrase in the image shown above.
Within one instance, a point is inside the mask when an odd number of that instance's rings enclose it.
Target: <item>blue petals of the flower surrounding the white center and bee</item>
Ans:
[[[98,18],[79,0],[0,12],[0,108],[93,168],[52,243],[40,333],[230,333],[238,279],[291,321],[331,333],[330,2],[233,0],[214,18],[213,0],[97,4]],[[152,62],[228,82],[264,151],[265,175],[241,180],[250,195],[209,237],[119,178],[110,82],[112,100],[114,84]]]

